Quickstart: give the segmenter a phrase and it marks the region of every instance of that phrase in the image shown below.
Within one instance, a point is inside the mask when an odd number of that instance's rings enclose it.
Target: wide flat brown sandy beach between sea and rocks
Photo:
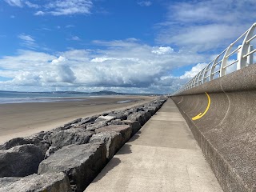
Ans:
[[[42,130],[62,126],[75,118],[125,109],[149,102],[153,97],[61,98],[58,102],[0,104],[0,144],[10,138],[26,137]],[[127,102],[127,101],[130,102]]]

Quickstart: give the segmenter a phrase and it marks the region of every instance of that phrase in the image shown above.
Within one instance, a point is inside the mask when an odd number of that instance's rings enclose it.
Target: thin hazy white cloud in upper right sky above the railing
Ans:
[[[246,10],[246,11],[245,11]],[[157,41],[186,50],[225,49],[254,22],[254,1],[206,0],[170,3],[158,24]]]

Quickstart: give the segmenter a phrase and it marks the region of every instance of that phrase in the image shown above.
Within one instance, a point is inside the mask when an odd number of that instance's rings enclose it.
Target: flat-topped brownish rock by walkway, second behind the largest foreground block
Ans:
[[[97,130],[95,130],[95,133],[98,134],[106,131],[116,131],[122,134],[122,145],[130,139],[132,133],[131,127],[128,125],[104,126],[102,128],[98,128]]]

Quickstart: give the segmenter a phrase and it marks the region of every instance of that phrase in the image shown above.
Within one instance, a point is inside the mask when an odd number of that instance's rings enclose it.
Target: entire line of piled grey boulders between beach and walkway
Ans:
[[[158,98],[78,118],[0,146],[0,192],[84,191],[114,154],[158,111]]]

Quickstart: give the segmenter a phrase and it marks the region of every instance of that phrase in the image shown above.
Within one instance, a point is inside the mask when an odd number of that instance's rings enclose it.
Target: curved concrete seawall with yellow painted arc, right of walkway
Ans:
[[[255,74],[248,66],[172,97],[224,191],[256,191]]]

